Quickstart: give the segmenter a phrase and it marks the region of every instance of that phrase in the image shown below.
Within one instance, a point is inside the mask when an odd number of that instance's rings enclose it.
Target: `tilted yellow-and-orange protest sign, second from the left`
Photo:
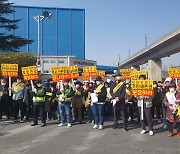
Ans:
[[[21,70],[24,81],[38,80],[37,66],[22,67]]]

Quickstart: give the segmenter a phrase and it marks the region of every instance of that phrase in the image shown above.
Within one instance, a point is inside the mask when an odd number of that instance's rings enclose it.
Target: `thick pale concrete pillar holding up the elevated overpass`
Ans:
[[[148,78],[154,81],[162,81],[162,62],[160,59],[148,60]]]

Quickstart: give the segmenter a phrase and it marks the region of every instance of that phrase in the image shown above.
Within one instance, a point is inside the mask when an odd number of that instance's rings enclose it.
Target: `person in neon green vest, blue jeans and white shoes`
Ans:
[[[61,123],[58,127],[65,125],[65,119],[68,127],[71,127],[71,101],[74,95],[73,88],[69,85],[68,80],[64,81],[64,85],[60,86],[57,91],[59,112],[61,117]]]

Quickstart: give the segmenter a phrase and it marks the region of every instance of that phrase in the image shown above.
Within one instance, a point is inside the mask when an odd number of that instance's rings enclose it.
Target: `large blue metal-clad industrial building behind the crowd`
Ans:
[[[44,11],[52,18],[44,18],[40,23],[41,55],[75,56],[85,59],[85,10],[47,7],[14,6],[11,19],[21,19],[18,29],[13,33],[33,43],[24,46],[20,51],[37,55],[38,23],[33,16],[42,15]],[[1,31],[1,30],[0,30]],[[8,32],[6,32],[8,33]]]

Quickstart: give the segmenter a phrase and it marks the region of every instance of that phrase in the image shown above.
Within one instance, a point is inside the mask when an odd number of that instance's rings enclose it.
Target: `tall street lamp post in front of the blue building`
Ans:
[[[38,51],[37,51],[37,67],[38,67],[38,71],[41,71],[41,65],[40,65],[40,55],[41,55],[41,49],[40,49],[40,23],[41,21],[43,21],[44,18],[48,17],[48,19],[51,19],[52,14],[50,14],[47,11],[43,12],[43,15],[37,15],[37,16],[33,16],[33,18],[37,21],[38,23],[38,41],[37,41],[37,45],[38,45]]]

